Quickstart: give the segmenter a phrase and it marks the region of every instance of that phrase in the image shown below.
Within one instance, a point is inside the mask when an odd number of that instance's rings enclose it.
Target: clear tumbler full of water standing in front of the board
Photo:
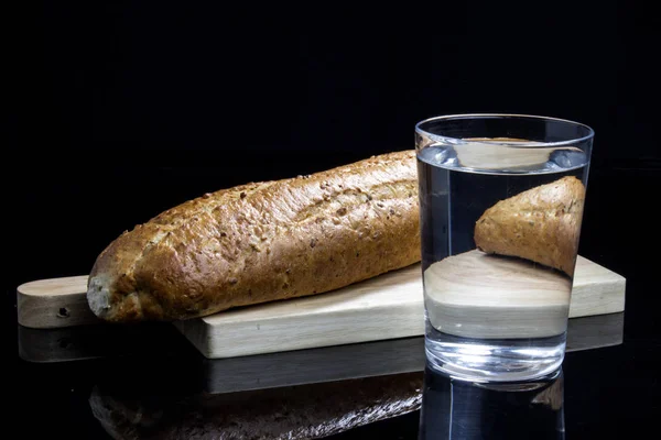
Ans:
[[[522,114],[415,125],[432,369],[509,382],[561,366],[593,136]]]

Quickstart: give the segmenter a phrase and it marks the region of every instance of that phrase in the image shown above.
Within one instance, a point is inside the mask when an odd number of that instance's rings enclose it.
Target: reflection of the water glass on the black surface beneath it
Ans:
[[[484,384],[427,366],[420,436],[435,439],[564,439],[563,377]]]

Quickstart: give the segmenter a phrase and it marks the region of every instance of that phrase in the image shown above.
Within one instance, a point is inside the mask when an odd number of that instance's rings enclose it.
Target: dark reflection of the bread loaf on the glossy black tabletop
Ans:
[[[229,394],[120,397],[94,388],[94,416],[115,439],[316,439],[420,408],[423,373]]]

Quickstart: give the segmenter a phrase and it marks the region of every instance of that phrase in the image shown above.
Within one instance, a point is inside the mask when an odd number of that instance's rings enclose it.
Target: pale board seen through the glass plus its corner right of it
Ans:
[[[479,251],[453,255],[424,272],[431,324],[466,338],[546,338],[566,329],[570,316],[624,309],[625,280],[585,258],[574,289],[564,273],[534,262]]]

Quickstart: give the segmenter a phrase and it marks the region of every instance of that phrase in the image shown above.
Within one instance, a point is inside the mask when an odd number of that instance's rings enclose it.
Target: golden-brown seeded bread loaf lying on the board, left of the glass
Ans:
[[[413,151],[207,194],[124,232],[89,276],[108,321],[321,294],[420,261]]]

